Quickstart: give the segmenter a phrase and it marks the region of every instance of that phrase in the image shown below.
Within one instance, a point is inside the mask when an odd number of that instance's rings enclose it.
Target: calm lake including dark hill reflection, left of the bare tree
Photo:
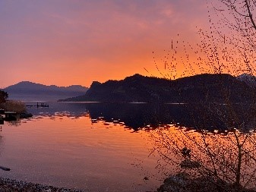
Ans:
[[[175,164],[151,154],[158,143],[152,131],[162,127],[179,143],[181,128],[191,131],[202,124],[197,109],[182,104],[48,104],[29,108],[33,118],[2,125],[0,165],[11,168],[1,170],[2,177],[86,191],[155,191],[166,175],[179,169],[181,157],[164,152]],[[204,127],[225,128],[214,119]],[[199,133],[192,131],[191,136]]]

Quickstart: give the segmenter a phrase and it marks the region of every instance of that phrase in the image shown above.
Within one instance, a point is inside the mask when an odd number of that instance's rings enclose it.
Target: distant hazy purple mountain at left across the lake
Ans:
[[[23,101],[57,101],[72,96],[84,95],[88,88],[80,85],[69,87],[46,86],[40,83],[22,81],[4,89],[8,93],[8,99]]]

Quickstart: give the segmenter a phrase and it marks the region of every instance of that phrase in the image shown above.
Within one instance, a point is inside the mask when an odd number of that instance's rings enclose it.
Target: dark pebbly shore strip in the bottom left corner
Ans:
[[[84,190],[58,188],[43,184],[33,184],[25,181],[0,178],[0,192],[84,192]]]

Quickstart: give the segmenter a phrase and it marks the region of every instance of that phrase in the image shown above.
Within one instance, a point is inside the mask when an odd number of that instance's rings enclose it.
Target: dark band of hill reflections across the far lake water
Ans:
[[[230,111],[232,110],[232,111]],[[176,124],[192,129],[227,130],[230,127],[254,129],[253,110],[245,105],[182,105],[182,104],[131,104],[131,103],[49,103],[49,109],[28,109],[33,115],[81,117],[89,112],[90,118],[103,118],[106,122],[120,121],[137,130],[150,125]]]

